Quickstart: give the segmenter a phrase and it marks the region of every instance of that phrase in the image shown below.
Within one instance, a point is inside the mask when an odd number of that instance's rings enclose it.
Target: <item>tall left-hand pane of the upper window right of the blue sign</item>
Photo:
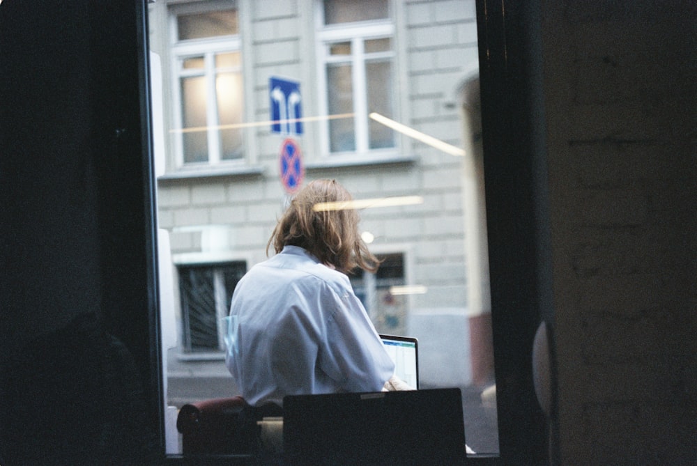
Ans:
[[[353,81],[351,65],[327,67],[328,105],[330,115],[353,113]],[[355,150],[353,118],[335,118],[329,121],[330,150]]]

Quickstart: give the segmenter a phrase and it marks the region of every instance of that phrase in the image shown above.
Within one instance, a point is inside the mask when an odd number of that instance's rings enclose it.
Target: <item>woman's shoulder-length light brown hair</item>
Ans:
[[[380,264],[358,232],[360,217],[351,205],[321,208],[323,203],[344,203],[353,198],[336,180],[309,182],[291,201],[279,219],[271,238],[279,253],[286,245],[299,246],[321,263],[349,273],[360,267],[375,272]],[[318,208],[319,207],[319,208]]]

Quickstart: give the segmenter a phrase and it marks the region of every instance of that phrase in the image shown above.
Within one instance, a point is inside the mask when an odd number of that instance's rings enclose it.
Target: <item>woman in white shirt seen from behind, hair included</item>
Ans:
[[[346,273],[379,264],[358,231],[358,212],[335,180],[298,192],[268,248],[236,286],[226,357],[252,406],[282,405],[294,394],[379,391],[394,364]],[[323,207],[324,205],[324,207]]]

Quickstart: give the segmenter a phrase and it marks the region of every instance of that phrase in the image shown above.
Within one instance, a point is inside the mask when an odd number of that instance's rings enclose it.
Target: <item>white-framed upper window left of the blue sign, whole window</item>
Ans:
[[[170,11],[178,166],[241,160],[244,92],[235,2],[187,3]]]

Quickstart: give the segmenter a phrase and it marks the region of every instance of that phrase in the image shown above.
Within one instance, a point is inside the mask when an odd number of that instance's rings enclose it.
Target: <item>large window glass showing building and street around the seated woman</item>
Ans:
[[[176,276],[160,290],[176,322],[167,403],[236,394],[220,336],[234,286],[267,258],[288,180],[335,178],[382,260],[350,274],[355,293],[378,332],[418,338],[421,387],[459,387],[469,446],[496,455],[475,0],[148,8]]]

